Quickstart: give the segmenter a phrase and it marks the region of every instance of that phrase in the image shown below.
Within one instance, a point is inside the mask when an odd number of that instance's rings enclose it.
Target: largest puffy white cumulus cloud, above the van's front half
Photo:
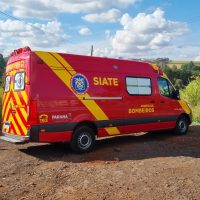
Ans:
[[[124,14],[120,23],[123,29],[111,37],[117,54],[161,49],[188,31],[186,23],[165,19],[159,8],[152,14],[139,13],[133,18]]]

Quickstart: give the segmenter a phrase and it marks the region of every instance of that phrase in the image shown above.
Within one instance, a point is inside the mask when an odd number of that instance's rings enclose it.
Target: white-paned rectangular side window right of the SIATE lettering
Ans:
[[[151,79],[126,77],[127,91],[131,95],[151,95]]]

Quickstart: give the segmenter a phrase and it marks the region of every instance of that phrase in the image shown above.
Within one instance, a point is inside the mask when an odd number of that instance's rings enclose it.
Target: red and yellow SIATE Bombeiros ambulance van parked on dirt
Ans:
[[[173,129],[185,134],[191,110],[159,67],[139,61],[15,50],[7,63],[2,140],[70,142]]]

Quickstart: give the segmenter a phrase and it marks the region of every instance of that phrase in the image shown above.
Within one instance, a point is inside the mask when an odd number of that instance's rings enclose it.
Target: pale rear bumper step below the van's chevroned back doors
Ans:
[[[14,144],[24,144],[29,141],[29,136],[11,135],[3,132],[0,136],[0,140]]]

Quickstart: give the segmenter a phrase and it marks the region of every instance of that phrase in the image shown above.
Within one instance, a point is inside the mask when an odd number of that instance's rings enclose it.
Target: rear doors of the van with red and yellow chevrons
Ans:
[[[7,136],[28,135],[28,67],[27,58],[9,63],[6,67],[2,99],[2,132]]]

